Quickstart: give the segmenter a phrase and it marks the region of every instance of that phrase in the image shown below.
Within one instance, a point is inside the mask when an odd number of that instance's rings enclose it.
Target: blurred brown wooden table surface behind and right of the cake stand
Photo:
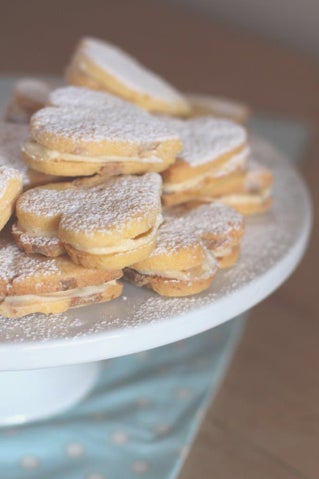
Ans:
[[[313,126],[303,173],[319,207],[319,64],[207,16],[151,0],[10,0],[0,73],[59,74],[91,34],[135,53],[184,90],[222,93]],[[297,272],[256,307],[181,479],[319,477],[319,208]]]

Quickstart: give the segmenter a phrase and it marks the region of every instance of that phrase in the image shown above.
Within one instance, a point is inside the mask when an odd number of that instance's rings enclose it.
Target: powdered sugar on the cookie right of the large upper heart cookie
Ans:
[[[163,121],[174,128],[182,140],[183,150],[178,158],[193,167],[217,160],[244,147],[247,142],[246,130],[228,120],[200,117],[191,120],[166,118]]]

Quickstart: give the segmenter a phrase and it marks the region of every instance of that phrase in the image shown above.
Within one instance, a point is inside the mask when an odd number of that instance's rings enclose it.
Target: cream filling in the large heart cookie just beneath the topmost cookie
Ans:
[[[157,157],[154,153],[148,152],[143,156],[86,156],[73,155],[70,153],[61,153],[60,151],[50,150],[45,146],[29,141],[24,147],[23,151],[33,160],[50,161],[75,161],[85,163],[123,163],[123,162],[137,162],[137,163],[162,163],[162,159]]]

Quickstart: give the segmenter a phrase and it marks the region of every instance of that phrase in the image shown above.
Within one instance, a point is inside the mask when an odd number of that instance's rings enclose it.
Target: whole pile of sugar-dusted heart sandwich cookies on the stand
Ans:
[[[0,313],[108,301],[123,274],[164,296],[210,287],[238,259],[241,213],[271,204],[271,173],[239,124],[248,110],[200,112],[91,38],[66,79],[21,80],[0,124]]]

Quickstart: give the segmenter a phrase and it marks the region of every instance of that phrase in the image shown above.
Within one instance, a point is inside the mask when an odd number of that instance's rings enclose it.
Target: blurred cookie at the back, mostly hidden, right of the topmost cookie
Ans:
[[[246,123],[251,111],[248,105],[230,98],[204,95],[201,93],[188,93],[187,100],[191,105],[189,117],[211,115],[218,118]]]

